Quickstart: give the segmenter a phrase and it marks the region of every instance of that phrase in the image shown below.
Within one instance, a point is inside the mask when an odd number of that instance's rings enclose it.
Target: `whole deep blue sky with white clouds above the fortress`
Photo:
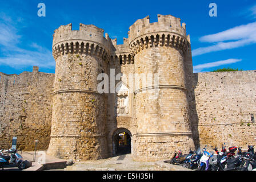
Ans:
[[[210,3],[217,4],[217,17],[210,17]],[[38,3],[45,3],[46,16],[39,17]],[[186,23],[193,51],[194,72],[217,68],[256,70],[256,2],[251,1],[43,1],[1,0],[0,72],[32,71],[54,73],[51,54],[53,33],[63,24],[94,24],[118,44],[127,38],[137,19],[157,14],[173,15]]]

